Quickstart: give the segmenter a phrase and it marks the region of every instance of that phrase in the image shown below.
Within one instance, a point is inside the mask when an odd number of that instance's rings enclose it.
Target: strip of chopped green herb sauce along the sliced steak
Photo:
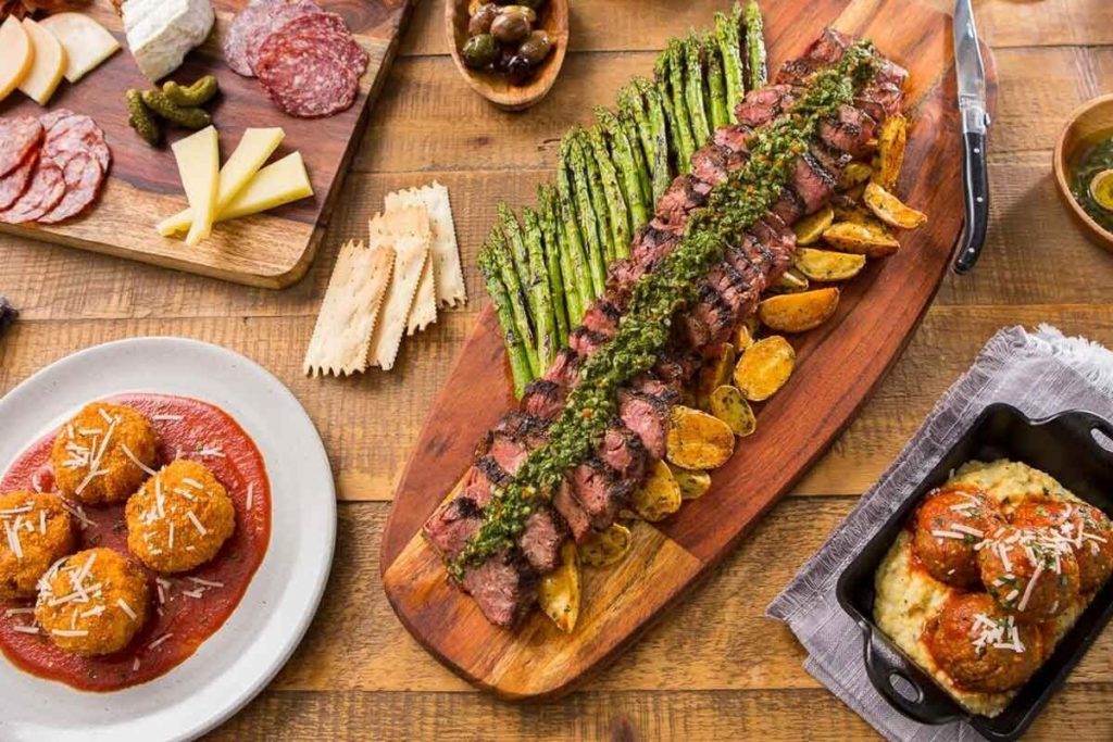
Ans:
[[[453,577],[512,546],[533,504],[548,501],[564,473],[591,455],[617,412],[619,386],[653,366],[676,311],[695,300],[700,279],[722,259],[727,245],[780,197],[819,122],[851,102],[856,87],[876,70],[873,44],[856,43],[838,65],[811,77],[791,112],[751,138],[746,165],[716,187],[707,207],[692,214],[680,245],[634,285],[618,333],[583,363],[580,383],[550,426],[548,442],[530,453],[509,484],[495,488],[479,533],[449,565]]]

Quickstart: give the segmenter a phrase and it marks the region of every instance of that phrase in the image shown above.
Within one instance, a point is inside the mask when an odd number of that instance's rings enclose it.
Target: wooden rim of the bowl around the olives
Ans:
[[[560,77],[561,69],[564,67],[564,56],[568,52],[568,41],[571,36],[568,0],[550,0],[549,2],[548,12],[551,13],[550,23],[552,24],[550,36],[553,41],[553,51],[549,59],[542,63],[541,69],[529,85],[506,92],[492,89],[485,81],[486,73],[470,69],[460,56],[455,21],[461,11],[466,12],[470,1],[449,0],[444,6],[444,30],[449,37],[452,61],[455,62],[461,77],[472,90],[504,110],[521,111],[540,102],[552,90],[556,78]],[[525,93],[524,97],[523,93]]]

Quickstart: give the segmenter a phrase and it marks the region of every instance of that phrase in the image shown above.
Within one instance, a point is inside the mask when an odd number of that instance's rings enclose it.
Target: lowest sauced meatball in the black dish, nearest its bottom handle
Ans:
[[[958,594],[924,626],[924,643],[955,685],[974,693],[1020,687],[1040,669],[1044,636],[985,593]]]

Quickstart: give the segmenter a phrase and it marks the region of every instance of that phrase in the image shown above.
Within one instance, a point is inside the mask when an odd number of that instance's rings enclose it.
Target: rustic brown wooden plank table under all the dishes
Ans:
[[[324,604],[278,679],[213,739],[875,736],[800,669],[804,655],[791,634],[762,613],[996,329],[1050,323],[1113,347],[1113,255],[1071,224],[1051,178],[1051,148],[1066,115],[1113,90],[1113,6],[1105,0],[978,3],[1001,78],[993,221],[981,264],[973,275],[945,279],[904,357],[794,495],[613,666],[561,701],[495,701],[427,656],[380,587],[378,537],[394,482],[486,301],[473,258],[498,199],[523,202],[551,172],[569,126],[611,102],[622,81],[648,72],[668,36],[705,24],[725,4],[574,2],[573,48],[561,79],[545,102],[513,116],[486,106],[457,78],[443,0],[418,3],[316,265],[280,294],[0,238],[0,294],[23,311],[0,342],[0,392],[90,345],[188,336],[234,348],[277,374],[324,437],[344,501]],[[452,191],[471,305],[407,340],[391,374],[303,377],[303,350],[338,245],[364,233],[385,191],[434,178]],[[1111,704],[1107,631],[1032,738],[1113,739]]]

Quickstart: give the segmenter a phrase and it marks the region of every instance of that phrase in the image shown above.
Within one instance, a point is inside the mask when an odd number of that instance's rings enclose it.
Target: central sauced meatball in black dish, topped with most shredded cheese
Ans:
[[[1054,619],[1078,597],[1078,562],[1051,528],[1006,526],[982,544],[978,565],[986,591],[1021,621]]]

